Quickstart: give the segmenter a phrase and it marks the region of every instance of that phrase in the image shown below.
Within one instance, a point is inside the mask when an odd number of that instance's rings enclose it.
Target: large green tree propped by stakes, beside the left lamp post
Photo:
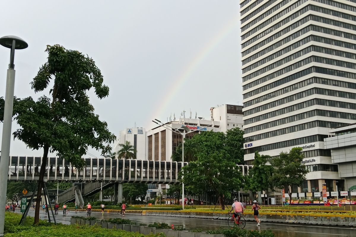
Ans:
[[[99,120],[89,103],[87,92],[93,87],[99,99],[109,95],[109,87],[103,84],[103,76],[94,60],[60,45],[47,45],[46,52],[48,61],[30,84],[36,93],[49,89],[46,93],[50,98],[42,96],[37,101],[31,97],[14,98],[15,119],[21,126],[14,137],[30,149],[43,149],[35,223],[39,220],[48,152],[56,153],[80,169],[85,165],[82,156],[88,146],[101,150],[104,155],[111,150],[110,143],[115,140],[107,123]],[[3,105],[4,99],[0,98],[0,111]]]

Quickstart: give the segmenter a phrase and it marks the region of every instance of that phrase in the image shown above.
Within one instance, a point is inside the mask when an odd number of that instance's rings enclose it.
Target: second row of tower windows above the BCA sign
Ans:
[[[344,112],[335,112],[335,111],[327,111],[322,109],[314,109],[312,111],[296,114],[289,116],[287,118],[277,119],[268,123],[260,124],[253,126],[251,128],[244,129],[245,134],[252,133],[254,131],[260,131],[267,128],[272,128],[274,126],[292,123],[294,121],[299,121],[306,118],[311,118],[314,116],[324,116],[324,117],[332,117],[332,118],[342,118],[342,119],[352,119],[356,118],[356,114],[344,113]],[[335,123],[336,124],[336,123]],[[336,127],[336,126],[335,126]]]

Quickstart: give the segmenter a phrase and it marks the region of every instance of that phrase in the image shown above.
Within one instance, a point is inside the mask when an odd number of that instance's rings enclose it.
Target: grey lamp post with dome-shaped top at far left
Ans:
[[[0,206],[6,203],[7,175],[9,174],[10,140],[12,107],[14,106],[14,87],[15,87],[15,49],[25,49],[28,44],[17,36],[4,36],[0,38],[0,44],[10,48],[10,64],[6,76],[6,92],[4,106],[4,123],[2,124],[2,142],[0,159]],[[4,236],[5,212],[0,211],[0,237]]]

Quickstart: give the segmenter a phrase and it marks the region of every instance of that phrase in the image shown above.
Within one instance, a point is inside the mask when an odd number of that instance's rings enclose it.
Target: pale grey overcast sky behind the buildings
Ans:
[[[15,52],[15,95],[43,95],[30,81],[47,61],[47,44],[78,50],[94,59],[110,87],[109,97],[90,98],[115,135],[135,123],[149,130],[152,119],[167,121],[173,113],[189,117],[191,110],[193,118],[197,112],[209,119],[210,107],[242,105],[236,0],[14,0],[1,3],[0,19],[0,37],[28,43]],[[0,46],[0,97],[9,58],[10,49]],[[12,131],[17,128],[13,123]],[[42,154],[11,140],[10,155]]]

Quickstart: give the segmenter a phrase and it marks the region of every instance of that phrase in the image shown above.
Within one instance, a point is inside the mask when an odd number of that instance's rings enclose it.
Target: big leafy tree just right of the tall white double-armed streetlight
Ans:
[[[239,169],[236,169],[236,162],[227,151],[226,136],[221,132],[204,131],[193,136],[192,140],[199,144],[197,160],[184,166],[184,185],[190,193],[212,191],[217,194],[221,209],[224,210],[224,197],[240,189],[243,179]]]

